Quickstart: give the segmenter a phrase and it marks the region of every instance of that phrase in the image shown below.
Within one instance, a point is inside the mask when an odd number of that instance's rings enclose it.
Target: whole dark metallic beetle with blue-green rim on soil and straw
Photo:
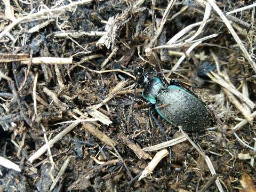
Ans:
[[[142,97],[155,104],[157,113],[173,126],[183,130],[198,132],[209,124],[210,110],[203,101],[177,80],[166,86],[161,78],[140,74],[138,82],[144,87]]]

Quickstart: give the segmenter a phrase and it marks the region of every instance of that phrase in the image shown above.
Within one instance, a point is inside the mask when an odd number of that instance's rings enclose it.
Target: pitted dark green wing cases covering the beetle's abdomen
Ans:
[[[183,87],[170,85],[156,96],[156,110],[174,126],[186,131],[200,131],[209,122],[205,104]]]

